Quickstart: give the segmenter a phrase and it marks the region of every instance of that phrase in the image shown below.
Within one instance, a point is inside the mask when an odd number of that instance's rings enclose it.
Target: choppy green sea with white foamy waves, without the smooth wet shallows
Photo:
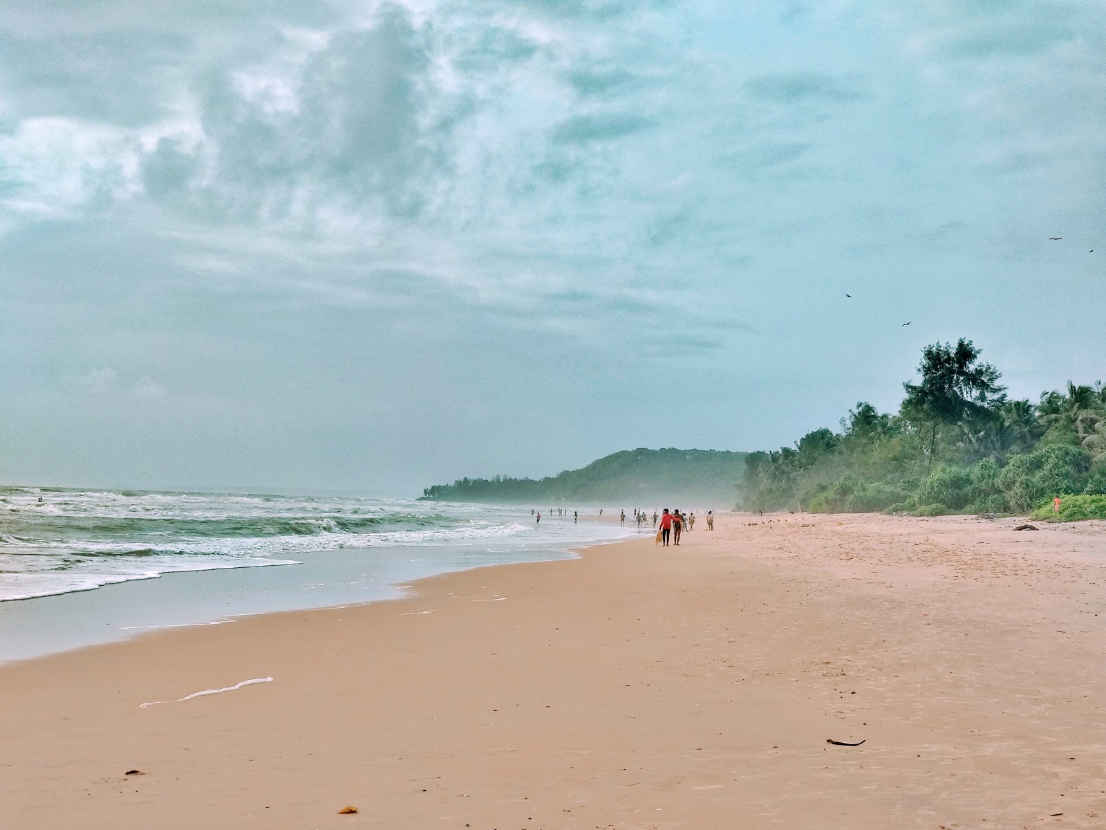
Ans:
[[[510,550],[628,535],[559,518],[535,527],[525,510],[489,505],[0,487],[0,602],[180,571],[294,564],[314,551],[448,547],[473,567],[492,548],[503,560]]]

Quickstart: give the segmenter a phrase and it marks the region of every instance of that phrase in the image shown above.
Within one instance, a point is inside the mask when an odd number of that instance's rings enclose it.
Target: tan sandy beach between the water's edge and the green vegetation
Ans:
[[[728,516],[13,664],[0,828],[1103,828],[1106,525],[1016,523]]]

